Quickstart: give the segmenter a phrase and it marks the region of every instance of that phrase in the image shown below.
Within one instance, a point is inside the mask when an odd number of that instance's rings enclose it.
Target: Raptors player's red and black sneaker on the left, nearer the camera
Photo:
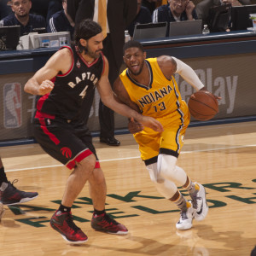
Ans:
[[[71,212],[56,211],[50,218],[49,224],[68,242],[84,243],[88,240],[84,232],[74,224]]]

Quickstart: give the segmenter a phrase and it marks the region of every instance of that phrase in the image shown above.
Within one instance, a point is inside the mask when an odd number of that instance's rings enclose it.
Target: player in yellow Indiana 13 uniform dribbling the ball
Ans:
[[[146,59],[142,44],[136,41],[127,42],[123,52],[127,69],[116,79],[114,91],[121,102],[163,125],[164,131],[155,132],[132,120],[129,130],[135,133],[152,182],[181,210],[177,230],[189,230],[193,218],[206,218],[208,207],[204,187],[193,183],[176,165],[190,116],[172,75],[179,73],[195,90],[206,89],[193,69],[177,58],[162,55]],[[178,186],[188,190],[191,201],[183,197]]]

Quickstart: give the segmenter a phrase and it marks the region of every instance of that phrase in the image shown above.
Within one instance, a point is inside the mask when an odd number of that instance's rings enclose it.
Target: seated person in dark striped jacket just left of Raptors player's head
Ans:
[[[73,40],[74,22],[67,15],[67,1],[62,0],[63,9],[56,12],[49,19],[47,32],[70,32],[70,37]]]

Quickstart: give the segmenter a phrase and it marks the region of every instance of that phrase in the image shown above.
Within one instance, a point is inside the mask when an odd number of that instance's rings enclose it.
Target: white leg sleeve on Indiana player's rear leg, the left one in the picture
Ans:
[[[164,177],[161,177],[157,170],[157,164],[151,164],[146,166],[151,181],[154,183],[155,188],[159,191],[160,195],[166,197],[166,199],[172,198],[177,191],[177,186]]]

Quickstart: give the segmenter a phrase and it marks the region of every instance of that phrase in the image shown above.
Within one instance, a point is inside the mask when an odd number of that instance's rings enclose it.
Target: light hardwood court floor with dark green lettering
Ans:
[[[207,188],[208,216],[191,230],[177,231],[177,208],[154,189],[131,135],[121,146],[95,138],[108,184],[106,209],[130,233],[113,236],[90,228],[88,187],[74,202],[76,224],[89,236],[71,246],[49,227],[69,175],[37,144],[0,148],[9,180],[38,191],[34,201],[7,210],[0,223],[0,254],[13,255],[250,255],[256,245],[256,122],[189,128],[178,159]]]

